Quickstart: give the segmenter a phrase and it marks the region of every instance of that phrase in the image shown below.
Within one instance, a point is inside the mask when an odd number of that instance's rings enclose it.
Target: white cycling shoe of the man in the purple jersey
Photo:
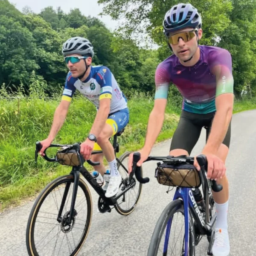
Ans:
[[[215,228],[215,239],[212,247],[213,256],[228,256],[230,254],[230,242],[226,229]]]

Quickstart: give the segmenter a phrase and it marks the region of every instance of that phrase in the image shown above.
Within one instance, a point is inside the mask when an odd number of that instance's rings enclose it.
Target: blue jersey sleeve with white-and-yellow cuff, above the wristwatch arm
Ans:
[[[96,73],[96,81],[100,85],[99,100],[112,99],[112,73],[107,67],[101,67]]]

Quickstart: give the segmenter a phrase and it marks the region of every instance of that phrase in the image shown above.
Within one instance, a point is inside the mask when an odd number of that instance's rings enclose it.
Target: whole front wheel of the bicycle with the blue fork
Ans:
[[[175,200],[168,204],[160,215],[151,237],[147,256],[195,255],[195,230],[190,211],[188,252],[186,255],[184,207],[181,200]]]

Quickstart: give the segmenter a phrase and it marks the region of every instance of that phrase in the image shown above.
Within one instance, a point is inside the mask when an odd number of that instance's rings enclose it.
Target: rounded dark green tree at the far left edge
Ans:
[[[36,44],[29,29],[0,15],[0,84],[27,81],[29,73],[39,69],[35,55]]]

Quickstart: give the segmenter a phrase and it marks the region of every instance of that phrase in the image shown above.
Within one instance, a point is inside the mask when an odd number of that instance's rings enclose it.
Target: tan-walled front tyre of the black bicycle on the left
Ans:
[[[27,247],[29,256],[40,256],[35,248],[34,228],[35,228],[36,217],[41,208],[41,205],[43,204],[44,200],[47,198],[47,195],[49,195],[49,193],[53,189],[55,189],[56,186],[59,186],[62,183],[66,183],[66,182],[73,183],[74,182],[73,175],[64,175],[61,177],[57,177],[55,180],[53,180],[51,183],[49,183],[41,191],[40,195],[38,195],[38,198],[36,199],[32,209],[31,209],[28,223],[27,223],[27,228],[26,228],[26,247]],[[77,245],[75,250],[73,250],[73,252],[70,254],[70,256],[76,256],[77,253],[81,250],[81,247],[83,246],[84,241],[86,240],[87,235],[89,233],[91,219],[92,219],[92,198],[90,195],[90,190],[88,189],[88,186],[86,185],[84,180],[82,180],[81,178],[79,178],[79,186],[83,190],[84,195],[86,197],[86,201],[87,201],[87,220],[86,220],[86,224],[84,227],[84,233],[81,236],[81,241],[79,242],[79,244]]]

